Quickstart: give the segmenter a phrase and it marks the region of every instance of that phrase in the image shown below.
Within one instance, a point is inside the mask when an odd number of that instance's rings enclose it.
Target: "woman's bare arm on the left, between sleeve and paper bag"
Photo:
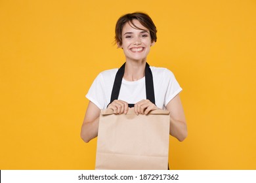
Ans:
[[[81,138],[85,142],[91,141],[98,136],[98,118],[100,117],[100,108],[91,101],[85,113],[85,119],[81,127]]]

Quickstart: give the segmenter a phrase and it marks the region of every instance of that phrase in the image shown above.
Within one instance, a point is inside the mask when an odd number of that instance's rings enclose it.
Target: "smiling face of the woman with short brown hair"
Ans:
[[[133,27],[136,25],[139,29]],[[146,57],[150,52],[150,46],[154,44],[150,37],[150,31],[140,24],[138,20],[127,22],[123,26],[122,44],[126,61],[146,61]]]

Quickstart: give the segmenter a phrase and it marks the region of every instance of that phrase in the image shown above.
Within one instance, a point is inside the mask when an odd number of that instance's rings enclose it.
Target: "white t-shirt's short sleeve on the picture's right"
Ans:
[[[166,69],[165,78],[167,79],[166,80],[167,91],[165,93],[165,106],[167,106],[169,101],[171,101],[171,99],[173,99],[176,95],[178,95],[182,91],[182,88],[177,82],[173,73],[168,69]]]

